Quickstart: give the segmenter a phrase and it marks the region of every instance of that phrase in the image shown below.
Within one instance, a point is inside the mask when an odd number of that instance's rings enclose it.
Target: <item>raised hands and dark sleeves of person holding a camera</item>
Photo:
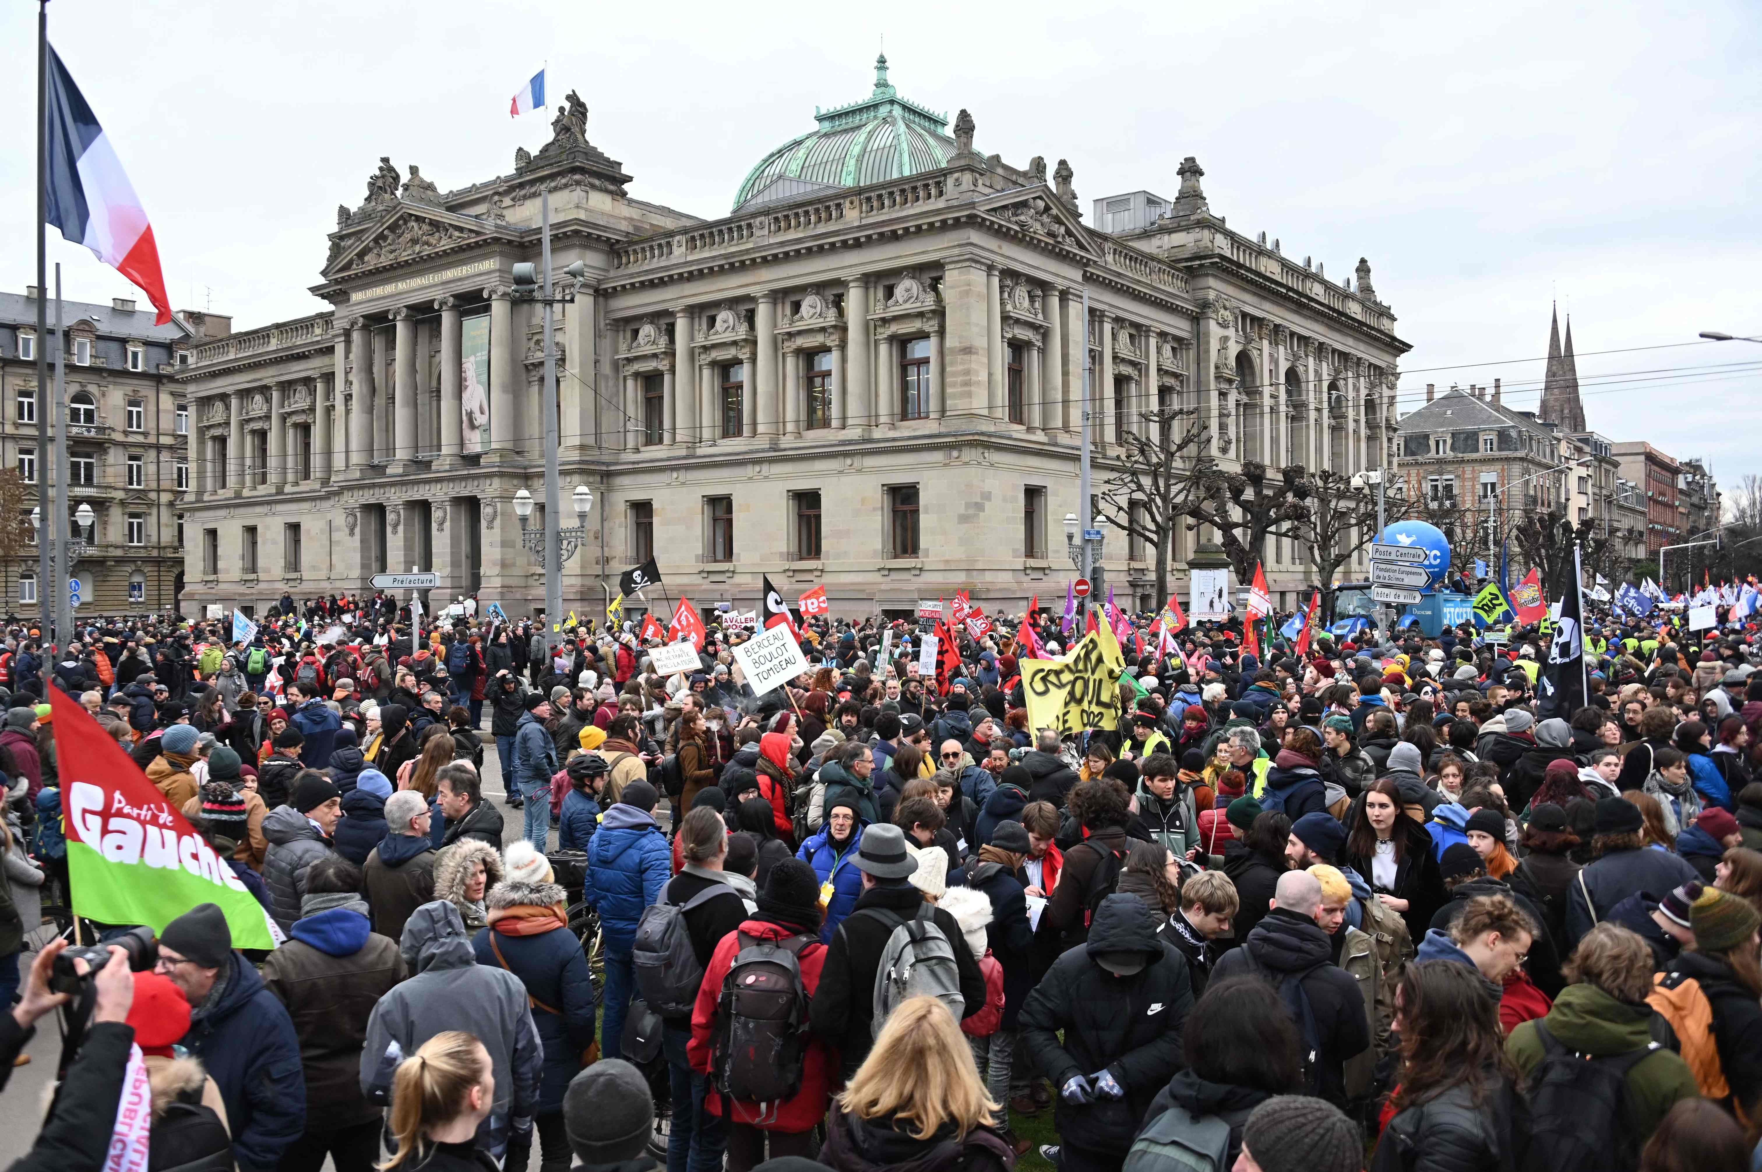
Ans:
[[[49,973],[67,948],[65,939],[49,941],[30,966],[25,996],[11,1013],[0,1013],[0,1089],[12,1075],[12,1059],[35,1035],[39,1017],[67,1005],[67,992],[53,992]],[[116,1103],[122,1102],[129,1070],[134,1027],[127,1024],[134,1006],[134,973],[129,952],[111,946],[109,962],[95,973],[86,961],[74,962],[78,980],[93,987],[92,1022],[79,1043],[79,1054],[49,1105],[49,1116],[30,1153],[11,1172],[65,1172],[67,1168],[102,1168],[116,1128]]]

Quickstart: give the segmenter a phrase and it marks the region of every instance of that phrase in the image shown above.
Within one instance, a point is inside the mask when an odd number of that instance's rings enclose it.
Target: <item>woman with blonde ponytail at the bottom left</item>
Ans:
[[[391,1077],[396,1149],[379,1172],[499,1172],[478,1147],[478,1124],[495,1107],[490,1052],[469,1033],[437,1033]]]

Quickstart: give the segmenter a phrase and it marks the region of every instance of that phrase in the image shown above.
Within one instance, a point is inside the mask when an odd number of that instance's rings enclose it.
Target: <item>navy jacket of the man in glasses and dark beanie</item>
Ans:
[[[236,952],[220,969],[220,1001],[190,1019],[183,1045],[226,1100],[240,1168],[273,1168],[307,1126],[307,1077],[294,1020]]]

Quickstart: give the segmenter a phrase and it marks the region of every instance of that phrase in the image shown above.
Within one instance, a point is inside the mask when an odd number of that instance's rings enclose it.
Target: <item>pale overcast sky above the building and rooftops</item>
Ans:
[[[1408,409],[1427,381],[1494,377],[1533,405],[1558,300],[1593,428],[1706,456],[1727,485],[1762,472],[1762,345],[1642,349],[1762,335],[1753,4],[49,7],[173,303],[236,328],[322,308],[307,287],[324,234],[381,155],[449,190],[537,150],[552,111],[511,120],[507,104],[541,65],[553,102],[581,93],[633,196],[714,219],[816,104],[869,93],[885,37],[900,93],[971,109],[980,152],[1070,159],[1085,217],[1107,194],[1173,196],[1196,155],[1232,227],[1336,280],[1367,256],[1413,345]],[[33,14],[0,11],[9,289],[35,264]],[[49,257],[70,298],[129,296],[53,234]]]

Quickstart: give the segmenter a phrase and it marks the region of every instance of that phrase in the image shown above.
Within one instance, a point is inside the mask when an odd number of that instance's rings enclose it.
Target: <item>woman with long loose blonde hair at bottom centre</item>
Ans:
[[[837,1172],[1008,1172],[1015,1149],[992,1130],[997,1112],[955,1015],[911,998],[833,1100],[819,1161]]]

